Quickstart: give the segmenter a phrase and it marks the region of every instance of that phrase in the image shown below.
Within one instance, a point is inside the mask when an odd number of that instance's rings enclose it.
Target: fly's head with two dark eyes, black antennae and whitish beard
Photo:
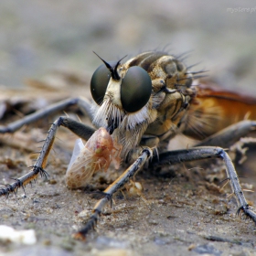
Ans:
[[[150,119],[152,80],[141,67],[125,65],[121,60],[106,62],[91,78],[93,124],[109,133],[119,129],[126,133],[136,130]]]

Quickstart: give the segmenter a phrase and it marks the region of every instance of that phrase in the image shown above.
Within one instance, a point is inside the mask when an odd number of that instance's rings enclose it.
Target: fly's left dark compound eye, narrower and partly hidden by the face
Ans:
[[[110,65],[116,62],[109,62]],[[91,77],[91,96],[98,105],[101,105],[105,92],[107,90],[109,80],[111,78],[111,71],[102,64],[96,69]]]

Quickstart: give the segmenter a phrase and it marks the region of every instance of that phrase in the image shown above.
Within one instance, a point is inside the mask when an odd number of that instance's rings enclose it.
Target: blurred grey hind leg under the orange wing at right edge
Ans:
[[[239,123],[230,125],[229,127],[221,130],[219,133],[215,133],[197,146],[201,145],[216,145],[220,147],[229,147],[235,142],[239,141],[241,137],[246,136],[251,131],[255,131],[256,121],[244,120]]]

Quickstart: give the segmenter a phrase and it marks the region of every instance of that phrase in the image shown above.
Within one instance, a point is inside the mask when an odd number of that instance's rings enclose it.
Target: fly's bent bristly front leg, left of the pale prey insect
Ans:
[[[32,170],[27,173],[25,176],[21,176],[16,179],[16,181],[12,184],[7,185],[6,187],[3,187],[0,189],[0,196],[6,196],[11,192],[15,192],[19,187],[25,187],[28,183],[30,183],[32,180],[36,179],[38,174],[41,176],[48,177],[48,173],[45,171],[45,167],[47,165],[48,155],[50,152],[50,149],[54,143],[54,139],[56,136],[56,133],[59,129],[59,126],[62,125],[64,127],[67,127],[70,131],[73,133],[76,133],[80,138],[84,140],[88,140],[92,133],[95,132],[95,129],[83,124],[79,123],[77,121],[74,121],[68,117],[59,117],[58,120],[56,120],[54,123],[52,123],[49,131],[48,136],[45,140],[45,143],[43,144],[40,154],[37,157],[37,161],[35,165],[33,165]]]

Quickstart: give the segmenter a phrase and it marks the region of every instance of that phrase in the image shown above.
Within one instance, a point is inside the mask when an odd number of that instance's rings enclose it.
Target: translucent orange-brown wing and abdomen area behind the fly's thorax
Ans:
[[[198,140],[233,123],[256,120],[256,98],[225,91],[212,83],[197,86],[183,123],[183,133]]]

